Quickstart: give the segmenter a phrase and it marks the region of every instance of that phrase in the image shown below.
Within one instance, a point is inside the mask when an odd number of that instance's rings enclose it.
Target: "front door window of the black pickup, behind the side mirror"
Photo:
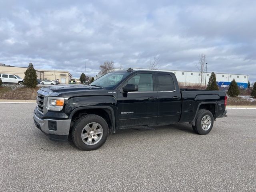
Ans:
[[[127,84],[137,84],[140,92],[153,91],[153,77],[151,73],[142,73],[132,77]]]

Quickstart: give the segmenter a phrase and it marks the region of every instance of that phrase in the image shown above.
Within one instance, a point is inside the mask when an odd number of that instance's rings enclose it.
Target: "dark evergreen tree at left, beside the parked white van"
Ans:
[[[33,64],[30,62],[27,70],[25,71],[24,85],[26,87],[35,88],[37,86],[37,75]]]

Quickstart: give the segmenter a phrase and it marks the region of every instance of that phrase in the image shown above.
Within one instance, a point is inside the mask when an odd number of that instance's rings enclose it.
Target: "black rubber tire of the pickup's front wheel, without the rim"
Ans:
[[[87,124],[90,124],[92,122],[100,124],[100,126],[102,127],[102,130],[103,130],[103,135],[98,143],[93,144],[93,145],[88,145],[83,142],[81,134],[82,134],[84,127]],[[104,120],[104,118],[102,118],[98,115],[89,114],[89,115],[81,117],[80,119],[78,119],[75,122],[71,137],[72,137],[72,140],[73,140],[75,146],[78,149],[84,150],[84,151],[90,151],[90,150],[96,150],[96,149],[100,148],[106,142],[106,139],[108,137],[108,132],[109,132],[108,124]]]

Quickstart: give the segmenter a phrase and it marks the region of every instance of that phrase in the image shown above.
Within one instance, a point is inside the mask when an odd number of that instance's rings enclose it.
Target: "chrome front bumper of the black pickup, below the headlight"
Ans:
[[[50,122],[50,125],[49,125]],[[71,120],[40,119],[34,114],[34,123],[38,129],[49,136],[51,140],[68,140]],[[54,130],[51,124],[54,125]]]

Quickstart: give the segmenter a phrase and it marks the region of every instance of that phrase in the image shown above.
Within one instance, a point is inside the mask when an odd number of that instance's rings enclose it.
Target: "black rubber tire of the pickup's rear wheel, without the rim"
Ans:
[[[208,128],[208,130],[204,130],[201,125],[201,122],[204,116],[210,116],[210,119],[211,119],[211,125],[210,125],[210,128]],[[196,116],[196,124],[192,126],[192,128],[194,132],[196,132],[197,134],[206,135],[212,130],[213,122],[214,122],[214,118],[212,113],[209,110],[200,109],[198,111],[198,115]]]

